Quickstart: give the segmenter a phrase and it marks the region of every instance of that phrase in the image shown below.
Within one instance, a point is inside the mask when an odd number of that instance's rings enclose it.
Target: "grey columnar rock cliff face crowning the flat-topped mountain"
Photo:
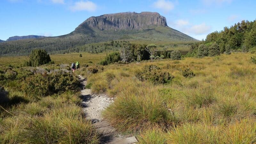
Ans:
[[[75,31],[85,28],[100,30],[142,30],[149,26],[167,26],[165,17],[157,12],[123,12],[90,17],[80,24]]]

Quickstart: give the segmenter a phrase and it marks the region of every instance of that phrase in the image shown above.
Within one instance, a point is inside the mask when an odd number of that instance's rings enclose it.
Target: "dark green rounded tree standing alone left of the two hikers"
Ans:
[[[28,66],[37,67],[51,62],[50,55],[44,49],[34,49],[29,55]]]

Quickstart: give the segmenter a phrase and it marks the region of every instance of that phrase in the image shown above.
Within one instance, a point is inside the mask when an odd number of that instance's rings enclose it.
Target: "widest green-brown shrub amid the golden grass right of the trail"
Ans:
[[[169,72],[155,65],[146,65],[143,70],[137,70],[135,76],[140,81],[149,80],[154,84],[165,84],[174,78]]]

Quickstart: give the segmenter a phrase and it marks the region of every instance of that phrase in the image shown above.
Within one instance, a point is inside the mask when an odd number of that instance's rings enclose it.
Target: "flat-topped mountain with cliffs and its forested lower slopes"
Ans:
[[[143,42],[197,41],[168,27],[165,17],[157,12],[123,12],[90,17],[67,35],[1,43],[0,56],[28,55],[35,48],[43,48],[49,53],[73,52],[79,49],[88,52],[89,47],[84,46],[85,44],[111,40]],[[82,46],[84,47],[81,48]],[[99,46],[93,47],[93,49],[98,48]],[[104,50],[106,49],[111,48],[104,46]]]

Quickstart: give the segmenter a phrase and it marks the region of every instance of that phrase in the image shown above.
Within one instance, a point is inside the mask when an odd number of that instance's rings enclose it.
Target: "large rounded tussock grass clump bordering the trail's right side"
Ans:
[[[148,84],[139,85],[120,92],[115,102],[104,111],[105,118],[123,132],[175,123],[175,117],[168,112],[158,92]]]

